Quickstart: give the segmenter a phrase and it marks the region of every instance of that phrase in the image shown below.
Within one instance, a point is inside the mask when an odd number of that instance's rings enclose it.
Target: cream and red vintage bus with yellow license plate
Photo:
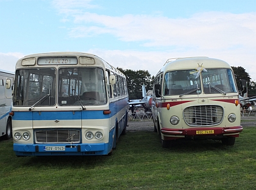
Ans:
[[[153,91],[152,118],[163,148],[181,138],[231,146],[243,131],[234,74],[225,61],[168,59],[155,76]]]

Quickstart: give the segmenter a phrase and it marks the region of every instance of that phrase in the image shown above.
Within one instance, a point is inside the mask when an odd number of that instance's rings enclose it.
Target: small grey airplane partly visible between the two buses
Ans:
[[[133,113],[133,109],[134,106],[143,106],[145,109],[145,112],[148,112],[151,110],[151,106],[152,106],[152,94],[153,91],[152,90],[148,90],[148,92],[146,92],[146,87],[143,84],[142,85],[142,99],[141,100],[130,100],[129,101],[129,105],[130,107],[132,107],[132,113]]]

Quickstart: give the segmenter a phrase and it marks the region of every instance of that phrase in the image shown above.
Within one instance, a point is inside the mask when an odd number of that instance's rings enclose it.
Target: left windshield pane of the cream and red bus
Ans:
[[[193,70],[175,70],[165,74],[163,95],[191,95],[201,93],[201,82],[191,74]]]

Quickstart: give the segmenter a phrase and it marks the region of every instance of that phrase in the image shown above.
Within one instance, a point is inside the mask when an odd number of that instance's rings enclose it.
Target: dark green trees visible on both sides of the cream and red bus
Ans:
[[[154,84],[154,76],[151,76],[148,70],[131,70],[123,68],[117,69],[126,75],[130,100],[143,98],[141,87],[143,84],[146,87],[146,91],[152,90]],[[243,95],[245,92],[248,92],[249,97],[256,95],[256,83],[255,81],[252,81],[249,73],[247,73],[246,70],[240,66],[232,67],[232,69],[235,73],[235,80],[240,95]]]

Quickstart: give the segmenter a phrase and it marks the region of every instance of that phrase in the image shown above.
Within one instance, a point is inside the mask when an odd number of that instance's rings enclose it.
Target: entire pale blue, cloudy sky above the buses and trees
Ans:
[[[256,80],[255,0],[0,0],[0,69],[32,53],[86,52],[155,76],[208,56]]]

